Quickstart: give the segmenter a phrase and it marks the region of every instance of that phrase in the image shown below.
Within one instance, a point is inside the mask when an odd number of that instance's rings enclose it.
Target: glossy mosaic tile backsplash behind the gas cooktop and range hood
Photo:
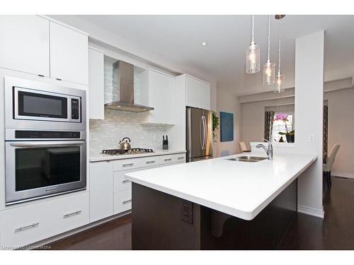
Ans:
[[[105,58],[105,103],[119,99],[118,84],[113,82],[112,59]],[[117,69],[115,69],[117,71]],[[116,74],[116,73],[115,73]],[[135,102],[139,102],[139,73],[134,75]],[[90,153],[103,149],[119,148],[119,141],[129,137],[132,148],[162,149],[162,136],[171,125],[142,124],[145,113],[105,110],[105,119],[90,119]]]

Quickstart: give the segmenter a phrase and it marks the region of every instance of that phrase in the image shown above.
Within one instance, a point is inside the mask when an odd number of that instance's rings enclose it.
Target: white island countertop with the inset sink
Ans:
[[[226,160],[242,155],[245,154],[129,172],[125,178],[252,220],[317,159],[316,155],[275,154],[273,160],[256,163]]]

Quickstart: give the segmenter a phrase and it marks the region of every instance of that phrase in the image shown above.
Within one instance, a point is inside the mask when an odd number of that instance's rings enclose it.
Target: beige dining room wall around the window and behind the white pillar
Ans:
[[[354,88],[325,92],[324,100],[327,100],[329,105],[329,151],[335,143],[341,144],[333,164],[332,175],[354,177]],[[283,99],[282,102],[293,104],[295,97]],[[263,100],[241,104],[240,141],[246,144],[262,141],[265,107],[275,106],[277,103],[278,100]]]

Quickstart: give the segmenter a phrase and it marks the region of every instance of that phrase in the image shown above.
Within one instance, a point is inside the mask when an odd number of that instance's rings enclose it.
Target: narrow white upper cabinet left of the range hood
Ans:
[[[89,100],[90,119],[104,119],[104,54],[89,47]]]

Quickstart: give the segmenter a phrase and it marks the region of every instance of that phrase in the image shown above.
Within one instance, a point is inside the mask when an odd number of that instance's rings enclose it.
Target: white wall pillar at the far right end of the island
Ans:
[[[324,30],[296,40],[295,117],[296,153],[318,155],[298,179],[298,209],[323,215],[322,128],[324,107]],[[314,142],[309,136],[314,135]]]

